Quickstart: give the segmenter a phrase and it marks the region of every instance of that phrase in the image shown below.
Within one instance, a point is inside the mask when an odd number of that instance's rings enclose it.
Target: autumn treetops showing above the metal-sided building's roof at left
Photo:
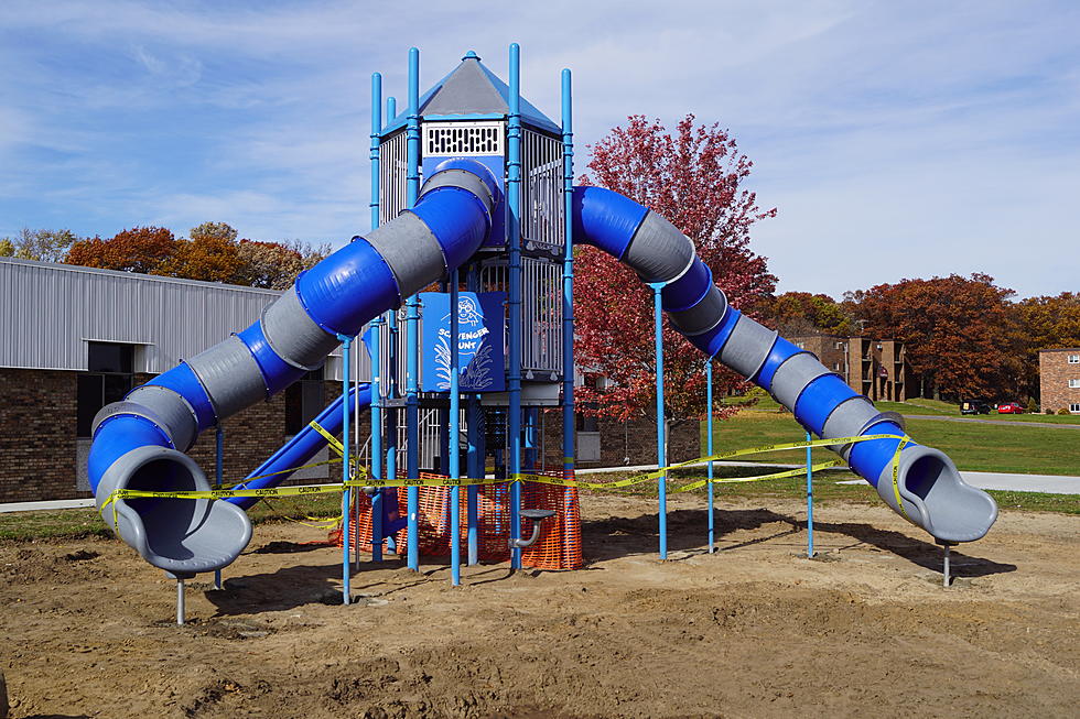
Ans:
[[[71,230],[22,229],[0,238],[0,257],[285,290],[330,254],[328,243],[238,239],[225,222],[203,222],[188,237],[163,227],[133,227],[109,239]]]

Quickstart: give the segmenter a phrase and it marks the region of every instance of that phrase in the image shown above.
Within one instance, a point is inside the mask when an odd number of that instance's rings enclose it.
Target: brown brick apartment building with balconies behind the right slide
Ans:
[[[915,396],[907,352],[899,340],[834,335],[789,339],[817,355],[822,364],[844,378],[847,386],[875,402],[903,402]]]

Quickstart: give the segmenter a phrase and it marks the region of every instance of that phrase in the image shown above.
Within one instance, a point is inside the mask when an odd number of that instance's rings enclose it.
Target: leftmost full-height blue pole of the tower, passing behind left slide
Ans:
[[[371,229],[379,226],[379,132],[382,128],[382,76],[371,75]],[[371,329],[371,477],[382,478],[382,317]],[[359,537],[356,549],[359,553]],[[382,490],[371,497],[371,560],[382,560]],[[359,556],[356,559],[359,568]]]

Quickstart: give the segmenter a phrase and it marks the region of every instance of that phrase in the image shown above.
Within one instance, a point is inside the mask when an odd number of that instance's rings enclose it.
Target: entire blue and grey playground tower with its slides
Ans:
[[[808,438],[819,437],[887,505],[939,543],[971,542],[990,530],[997,508],[989,494],[964,483],[943,453],[912,442],[899,416],[878,412],[812,353],[731,307],[689,238],[617,193],[574,187],[570,72],[562,72],[562,122],[555,124],[521,97],[517,45],[509,59],[508,85],[469,52],[421,96],[413,48],[408,107],[397,115],[390,98],[385,123],[381,78],[374,75],[372,229],[302,273],[251,326],[99,413],[90,483],[102,516],[126,543],[180,580],[220,570],[251,538],[244,510],[258,501],[258,491],[283,482],[326,445],[327,436],[341,434],[343,599],[348,603],[350,538],[360,536],[356,512],[364,504],[354,501],[358,480],[348,459],[360,445],[360,411],[369,407],[374,489],[366,521],[372,559],[403,531],[407,564],[419,567],[421,472],[462,478],[464,437],[466,478],[483,479],[490,454],[496,479],[508,480],[499,502],[508,511],[510,566],[521,567],[528,544],[522,516],[533,524],[543,519],[522,504],[523,481],[536,471],[540,407],[561,406],[564,486],[549,489],[564,512],[576,508],[575,243],[608,252],[652,290],[658,416],[666,313],[703,352],[710,377],[719,360],[770,392],[792,411]],[[440,292],[424,292],[436,283]],[[358,338],[371,358],[369,384],[358,382]],[[209,481],[184,454],[197,435],[218,427],[220,443],[222,420],[282,391],[338,345],[343,394],[316,418],[317,427],[293,437],[251,473],[253,479],[235,488],[244,495],[224,501],[207,495]],[[505,429],[487,443],[493,433],[485,425],[492,424]],[[659,553],[666,558],[667,458],[663,423],[657,424]],[[401,475],[408,484],[404,516],[398,488],[386,487],[399,483]],[[486,494],[478,482],[462,483],[466,560],[473,564],[479,560],[477,508]],[[712,482],[708,487],[712,506]],[[202,494],[131,494],[140,491]],[[456,585],[461,486],[446,493]]]

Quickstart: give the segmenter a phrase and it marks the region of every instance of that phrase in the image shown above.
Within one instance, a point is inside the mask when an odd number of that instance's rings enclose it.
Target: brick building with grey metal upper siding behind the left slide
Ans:
[[[0,258],[0,502],[89,498],[97,411],[242,329],[278,294]],[[226,420],[225,479],[241,480],[337,396],[339,375],[332,357],[309,379]],[[213,478],[214,433],[190,454]],[[325,468],[303,478],[320,476]]]

